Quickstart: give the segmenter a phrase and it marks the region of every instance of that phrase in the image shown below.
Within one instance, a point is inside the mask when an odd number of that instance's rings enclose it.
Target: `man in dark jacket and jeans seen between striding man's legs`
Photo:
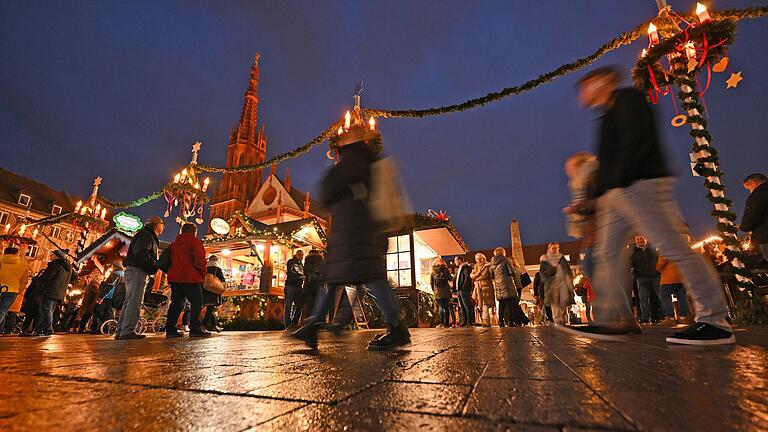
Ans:
[[[640,295],[640,321],[650,323],[658,320],[659,311],[659,272],[656,264],[659,254],[648,247],[648,239],[642,234],[635,235],[635,246],[632,248],[632,277],[637,281],[637,291]]]

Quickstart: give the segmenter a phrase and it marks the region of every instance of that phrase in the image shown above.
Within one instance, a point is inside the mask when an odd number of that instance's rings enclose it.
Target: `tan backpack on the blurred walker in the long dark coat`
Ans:
[[[385,231],[399,231],[413,213],[397,162],[391,156],[371,164],[371,191],[368,208],[371,218]]]

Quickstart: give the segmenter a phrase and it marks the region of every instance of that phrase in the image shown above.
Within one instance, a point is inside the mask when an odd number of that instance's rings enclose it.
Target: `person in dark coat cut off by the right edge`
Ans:
[[[744,179],[749,191],[741,218],[741,230],[752,233],[752,244],[768,260],[768,177],[762,173],[751,174]]]

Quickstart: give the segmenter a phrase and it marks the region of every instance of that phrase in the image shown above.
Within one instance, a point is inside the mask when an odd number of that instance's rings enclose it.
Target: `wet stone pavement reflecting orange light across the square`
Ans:
[[[0,338],[0,430],[768,430],[768,327],[738,345],[628,343],[550,328],[416,329],[209,339]]]

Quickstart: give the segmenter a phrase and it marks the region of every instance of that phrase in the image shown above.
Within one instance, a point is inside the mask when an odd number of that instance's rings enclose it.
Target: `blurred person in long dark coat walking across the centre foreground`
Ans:
[[[378,133],[367,126],[355,124],[341,135],[335,148],[339,162],[322,181],[321,200],[333,215],[326,256],[326,283],[332,288],[322,290],[315,311],[307,324],[294,333],[310,347],[317,346],[315,325],[319,311],[327,310],[337,286],[366,285],[387,323],[388,331],[375,337],[370,350],[392,349],[410,343],[408,328],[400,317],[400,306],[394,290],[386,278],[386,234],[371,219],[368,196],[371,190],[371,167],[378,159]],[[344,304],[344,303],[343,303]],[[340,309],[334,321],[346,323],[352,314],[348,308]],[[332,327],[338,328],[338,327]]]

